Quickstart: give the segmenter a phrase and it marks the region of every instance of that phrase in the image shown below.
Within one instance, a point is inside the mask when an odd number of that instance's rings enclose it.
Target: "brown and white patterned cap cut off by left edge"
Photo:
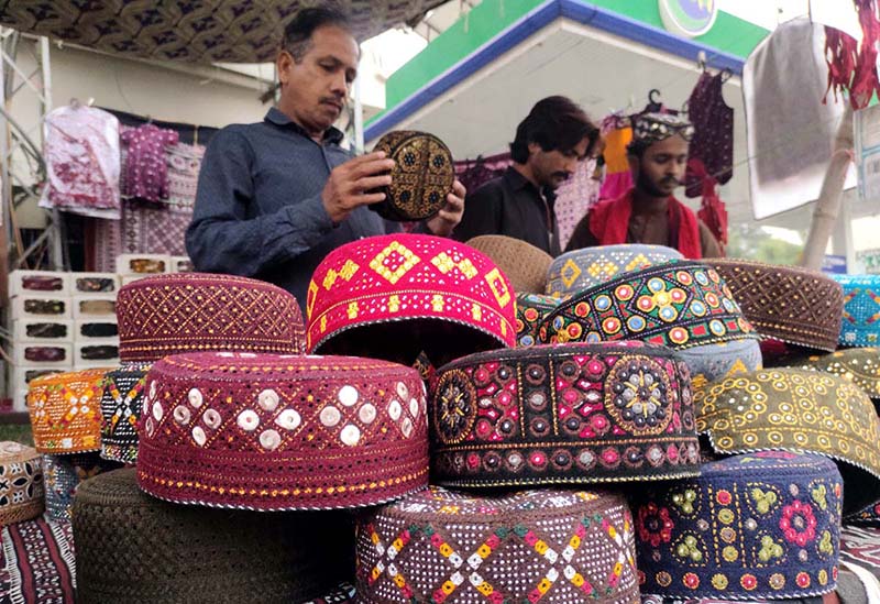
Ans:
[[[0,442],[0,527],[43,513],[40,453],[18,442]]]

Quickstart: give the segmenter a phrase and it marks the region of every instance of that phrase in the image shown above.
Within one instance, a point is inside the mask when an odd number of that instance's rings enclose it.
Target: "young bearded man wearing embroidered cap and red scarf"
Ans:
[[[591,209],[565,251],[648,243],[674,248],[694,260],[722,256],[708,227],[672,195],[684,180],[693,125],[668,113],[645,113],[632,122],[627,154],[635,187]]]

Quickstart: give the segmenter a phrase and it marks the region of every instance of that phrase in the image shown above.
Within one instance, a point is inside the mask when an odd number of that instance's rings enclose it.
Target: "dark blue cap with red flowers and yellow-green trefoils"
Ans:
[[[735,455],[635,494],[641,592],[795,598],[837,584],[843,479],[829,459]]]

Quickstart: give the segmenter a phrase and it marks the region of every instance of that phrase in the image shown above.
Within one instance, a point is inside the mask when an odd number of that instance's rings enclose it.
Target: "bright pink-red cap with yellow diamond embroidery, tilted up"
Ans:
[[[485,254],[451,239],[394,234],[348,243],[309,283],[307,349],[411,364],[513,347],[514,289]]]

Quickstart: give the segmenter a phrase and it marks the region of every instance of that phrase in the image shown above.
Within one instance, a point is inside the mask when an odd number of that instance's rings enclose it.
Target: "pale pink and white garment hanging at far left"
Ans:
[[[43,122],[43,208],[119,219],[119,120],[94,107],[61,107]]]

